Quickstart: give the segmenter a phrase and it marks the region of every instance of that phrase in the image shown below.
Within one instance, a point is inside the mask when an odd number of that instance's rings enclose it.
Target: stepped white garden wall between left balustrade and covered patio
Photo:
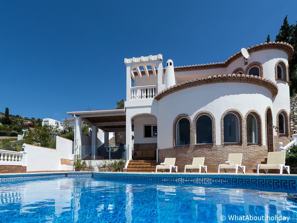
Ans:
[[[73,144],[73,141],[59,136],[56,149],[24,144],[24,151],[27,152],[27,172],[72,170],[71,165],[62,165],[60,158],[73,160]]]

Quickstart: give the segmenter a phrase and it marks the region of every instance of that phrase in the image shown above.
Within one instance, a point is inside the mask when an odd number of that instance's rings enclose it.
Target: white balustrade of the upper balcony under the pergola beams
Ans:
[[[131,100],[154,98],[157,94],[157,85],[131,87]]]

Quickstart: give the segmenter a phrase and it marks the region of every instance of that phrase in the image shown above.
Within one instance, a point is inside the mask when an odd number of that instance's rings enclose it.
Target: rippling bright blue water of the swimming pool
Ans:
[[[63,177],[0,184],[0,222],[297,222],[296,201],[280,192]]]

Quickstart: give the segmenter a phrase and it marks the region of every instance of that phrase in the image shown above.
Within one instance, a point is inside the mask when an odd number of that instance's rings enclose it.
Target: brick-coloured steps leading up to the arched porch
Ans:
[[[130,160],[127,172],[155,172],[158,164],[156,160]]]

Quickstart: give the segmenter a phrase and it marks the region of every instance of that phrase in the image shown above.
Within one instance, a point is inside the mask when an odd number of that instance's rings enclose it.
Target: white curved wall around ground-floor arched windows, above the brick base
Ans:
[[[173,122],[179,114],[187,114],[193,120],[199,111],[211,112],[216,121],[216,144],[221,144],[221,118],[228,109],[239,110],[243,118],[254,109],[260,113],[265,126],[265,110],[272,107],[271,97],[268,89],[247,83],[202,85],[167,95],[158,102],[158,148],[173,147]],[[265,128],[262,131],[265,135]],[[265,137],[263,144],[266,145]]]

